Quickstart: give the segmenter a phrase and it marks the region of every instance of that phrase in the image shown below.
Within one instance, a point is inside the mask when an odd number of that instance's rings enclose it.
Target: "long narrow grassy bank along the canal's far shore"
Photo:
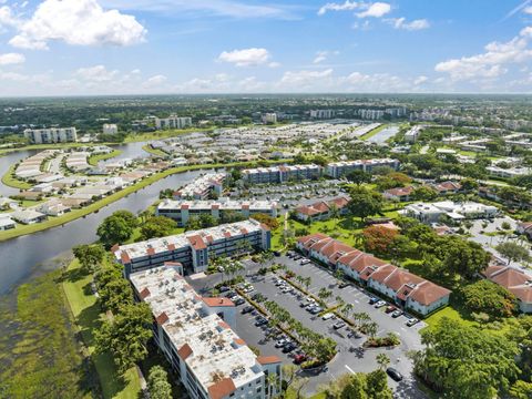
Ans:
[[[285,160],[283,162],[289,162],[289,161]],[[275,164],[275,163],[278,163],[278,162],[270,161],[269,163]],[[11,239],[11,238],[14,238],[14,237],[20,237],[20,236],[27,235],[27,234],[41,232],[41,231],[44,231],[44,229],[48,229],[48,228],[61,226],[65,223],[75,221],[80,217],[83,217],[83,216],[89,215],[93,212],[96,212],[96,211],[101,209],[102,207],[104,207],[109,204],[112,204],[112,203],[114,203],[114,202],[116,202],[116,201],[119,201],[119,200],[121,200],[121,198],[123,198],[123,197],[125,197],[125,196],[127,196],[132,193],[135,193],[141,188],[144,188],[144,187],[146,187],[146,186],[149,186],[149,185],[151,185],[155,182],[158,182],[160,180],[162,180],[164,177],[171,176],[171,175],[176,174],[176,173],[182,173],[182,172],[186,172],[186,171],[198,171],[198,170],[205,170],[205,168],[221,168],[221,167],[234,167],[234,166],[248,166],[248,167],[250,167],[250,166],[254,166],[254,165],[255,165],[255,163],[253,163],[253,162],[234,162],[234,163],[228,163],[228,164],[207,164],[207,165],[192,165],[192,166],[172,167],[172,168],[168,168],[166,171],[155,173],[154,175],[152,175],[150,177],[146,177],[146,178],[140,181],[139,183],[136,183],[132,186],[125,187],[124,190],[121,190],[117,193],[111,194],[110,196],[108,196],[105,198],[96,201],[96,202],[92,203],[91,205],[85,206],[84,208],[71,211],[71,212],[64,214],[63,216],[50,217],[48,221],[42,222],[42,223],[37,223],[37,224],[32,224],[32,225],[20,225],[20,226],[17,226],[17,228],[13,228],[13,229],[10,229],[10,231],[7,231],[7,232],[0,232],[0,242]]]

